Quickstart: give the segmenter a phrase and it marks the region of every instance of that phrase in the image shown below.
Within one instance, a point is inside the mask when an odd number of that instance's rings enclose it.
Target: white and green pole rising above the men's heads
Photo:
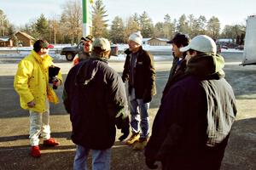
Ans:
[[[82,0],[83,37],[92,33],[92,5],[93,0]]]

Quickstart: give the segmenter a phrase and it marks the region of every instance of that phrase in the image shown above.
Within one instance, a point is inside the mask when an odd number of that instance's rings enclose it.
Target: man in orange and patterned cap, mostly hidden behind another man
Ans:
[[[81,40],[83,41],[83,49],[73,58],[73,65],[77,65],[80,61],[89,59],[91,55],[91,43],[95,40],[95,37],[88,35],[81,37]]]

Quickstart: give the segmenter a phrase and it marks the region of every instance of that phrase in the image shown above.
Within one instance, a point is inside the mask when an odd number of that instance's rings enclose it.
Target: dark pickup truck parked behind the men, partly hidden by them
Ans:
[[[68,61],[72,61],[76,54],[79,53],[79,51],[83,50],[83,42],[79,42],[77,46],[73,47],[66,47],[61,49],[61,55],[65,55],[66,59]],[[117,45],[112,44],[111,45],[111,55],[118,56],[119,55],[119,48]]]

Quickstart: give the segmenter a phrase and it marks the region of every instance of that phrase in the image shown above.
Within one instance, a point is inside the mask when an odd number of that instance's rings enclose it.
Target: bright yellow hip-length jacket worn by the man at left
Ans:
[[[46,54],[40,57],[34,50],[22,59],[18,65],[15,75],[14,87],[20,95],[20,106],[26,110],[37,112],[46,111],[45,99],[48,97],[50,102],[58,103],[58,97],[54,90],[49,86],[49,65],[54,65],[52,58]],[[61,71],[58,78],[62,82]],[[34,100],[36,105],[32,108],[27,103]]]

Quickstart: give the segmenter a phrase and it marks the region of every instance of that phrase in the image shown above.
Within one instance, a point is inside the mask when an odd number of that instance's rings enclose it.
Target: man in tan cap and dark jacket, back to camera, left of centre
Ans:
[[[67,75],[63,102],[72,122],[72,140],[77,144],[73,169],[87,169],[92,150],[92,169],[110,169],[115,126],[129,135],[125,84],[108,66],[110,43],[96,38],[90,59],[75,65]]]

